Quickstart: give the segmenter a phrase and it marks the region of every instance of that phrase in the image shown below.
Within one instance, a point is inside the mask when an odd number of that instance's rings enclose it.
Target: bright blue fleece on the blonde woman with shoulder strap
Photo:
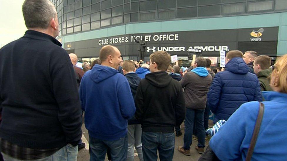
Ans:
[[[251,160],[286,160],[287,94],[262,94],[265,109]],[[257,101],[242,104],[211,138],[209,146],[220,160],[245,160],[258,110]]]

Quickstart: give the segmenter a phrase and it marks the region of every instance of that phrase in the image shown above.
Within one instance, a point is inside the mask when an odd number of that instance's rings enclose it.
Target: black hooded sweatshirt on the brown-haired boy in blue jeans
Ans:
[[[135,116],[143,131],[174,132],[185,118],[181,84],[166,72],[146,74],[136,91]]]

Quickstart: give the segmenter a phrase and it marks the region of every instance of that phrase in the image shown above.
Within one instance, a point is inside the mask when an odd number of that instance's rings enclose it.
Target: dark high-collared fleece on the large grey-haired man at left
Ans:
[[[82,115],[68,53],[33,30],[0,49],[0,137],[33,149],[77,145]]]

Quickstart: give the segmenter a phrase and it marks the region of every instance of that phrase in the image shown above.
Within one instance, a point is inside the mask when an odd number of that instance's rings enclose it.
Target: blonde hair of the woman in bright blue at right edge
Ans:
[[[287,54],[281,56],[274,65],[271,77],[276,77],[271,86],[278,87],[282,93],[287,93]]]

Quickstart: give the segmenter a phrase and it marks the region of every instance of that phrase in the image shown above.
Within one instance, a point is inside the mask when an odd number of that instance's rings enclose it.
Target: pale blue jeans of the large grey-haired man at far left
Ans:
[[[4,161],[20,161],[18,159],[14,159],[9,155],[6,155],[1,152],[3,155]],[[76,161],[78,156],[78,146],[72,146],[71,144],[67,144],[54,154],[50,155],[49,157],[45,157],[42,159],[36,159],[33,161]]]

